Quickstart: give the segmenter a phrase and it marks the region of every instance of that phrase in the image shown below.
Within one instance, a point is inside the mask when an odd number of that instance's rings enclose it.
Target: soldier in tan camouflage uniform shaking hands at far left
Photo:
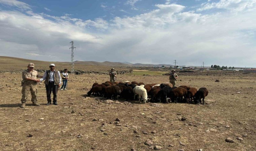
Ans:
[[[42,78],[41,75],[37,73],[36,70],[33,70],[35,67],[34,63],[28,64],[28,69],[22,71],[22,98],[21,98],[21,107],[24,108],[26,106],[26,101],[28,98],[29,91],[31,92],[31,101],[33,102],[33,106],[40,106],[40,104],[37,103],[37,88],[36,85],[40,80],[37,80],[36,78]]]

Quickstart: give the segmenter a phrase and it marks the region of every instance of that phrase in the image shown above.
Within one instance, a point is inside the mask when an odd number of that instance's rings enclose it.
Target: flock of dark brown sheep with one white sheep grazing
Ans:
[[[106,81],[105,83],[94,83],[91,90],[87,93],[88,96],[94,94],[94,96],[104,96],[109,99],[117,99],[118,96],[123,97],[126,100],[135,100],[138,96],[139,101],[146,103],[151,102],[184,102],[189,103],[192,100],[195,104],[201,103],[201,99],[208,95],[206,88],[200,88],[198,91],[196,88],[189,86],[173,87],[171,83],[162,84],[144,84],[143,82],[114,82]]]

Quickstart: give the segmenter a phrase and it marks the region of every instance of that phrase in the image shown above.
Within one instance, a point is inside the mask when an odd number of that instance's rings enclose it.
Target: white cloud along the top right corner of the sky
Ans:
[[[219,2],[210,1],[201,4],[197,11],[209,10],[213,8],[227,9],[231,11],[243,11],[256,8],[256,0],[220,0]]]

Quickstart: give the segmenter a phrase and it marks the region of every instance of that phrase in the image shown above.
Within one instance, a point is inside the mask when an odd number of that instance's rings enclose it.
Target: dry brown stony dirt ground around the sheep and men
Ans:
[[[144,151],[154,150],[156,145],[172,151],[256,150],[256,74],[199,73],[178,73],[182,81],[177,85],[206,87],[205,105],[86,97],[94,82],[109,78],[83,74],[70,75],[68,90],[58,92],[57,106],[45,105],[45,87],[38,84],[41,106],[31,106],[29,100],[26,108],[20,108],[21,72],[1,73],[0,150]],[[160,84],[168,82],[168,76],[118,75],[117,80]],[[117,124],[116,118],[120,119]],[[147,140],[152,145],[145,145]]]

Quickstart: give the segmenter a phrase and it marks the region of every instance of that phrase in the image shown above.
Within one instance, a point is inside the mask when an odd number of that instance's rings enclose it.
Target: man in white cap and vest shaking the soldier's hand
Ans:
[[[50,105],[51,100],[51,93],[53,92],[53,104],[58,105],[57,103],[57,93],[58,89],[61,85],[61,76],[60,71],[55,70],[55,64],[50,64],[50,70],[46,70],[43,74],[43,78],[40,81],[44,81],[45,88],[46,88],[46,96],[47,96],[47,104]]]

